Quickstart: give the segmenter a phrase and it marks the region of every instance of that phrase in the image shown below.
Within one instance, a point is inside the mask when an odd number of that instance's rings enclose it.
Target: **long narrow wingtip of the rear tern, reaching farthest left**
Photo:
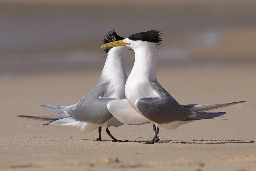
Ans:
[[[34,116],[18,115],[17,117],[52,122],[58,119],[68,118],[70,116],[66,114],[60,114],[60,115],[34,115]]]

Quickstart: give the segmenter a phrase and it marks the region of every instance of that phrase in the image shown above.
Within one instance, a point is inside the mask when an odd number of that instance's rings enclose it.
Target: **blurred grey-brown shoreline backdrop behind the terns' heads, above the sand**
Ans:
[[[255,9],[255,0],[0,0],[0,80],[101,70],[111,28],[162,31],[159,67],[255,65]]]

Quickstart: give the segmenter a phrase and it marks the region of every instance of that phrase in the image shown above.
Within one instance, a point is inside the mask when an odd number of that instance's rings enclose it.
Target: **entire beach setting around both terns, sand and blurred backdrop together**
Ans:
[[[255,0],[0,1],[0,171],[256,171]],[[53,114],[98,82],[106,32],[163,32],[158,82],[180,104],[236,101],[223,117],[81,133],[17,115]],[[134,56],[125,59],[127,74]]]

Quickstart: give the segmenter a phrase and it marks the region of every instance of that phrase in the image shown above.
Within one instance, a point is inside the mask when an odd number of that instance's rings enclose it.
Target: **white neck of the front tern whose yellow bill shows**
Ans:
[[[145,45],[133,50],[135,52],[135,61],[131,75],[148,78],[149,81],[157,81],[156,64],[158,49],[155,46]]]

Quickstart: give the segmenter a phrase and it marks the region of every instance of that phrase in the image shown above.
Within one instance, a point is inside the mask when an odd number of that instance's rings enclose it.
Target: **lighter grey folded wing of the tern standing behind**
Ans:
[[[109,121],[113,116],[107,108],[111,100],[118,100],[114,97],[103,97],[110,82],[97,85],[75,106],[64,108],[63,111],[77,121],[90,122],[101,125]]]

